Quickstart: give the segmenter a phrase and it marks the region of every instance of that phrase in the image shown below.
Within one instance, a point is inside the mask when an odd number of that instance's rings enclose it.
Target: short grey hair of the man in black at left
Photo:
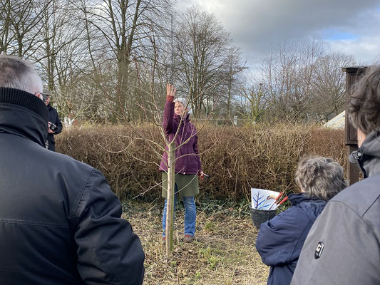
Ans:
[[[33,63],[16,56],[0,55],[0,86],[24,90],[29,93],[42,93],[41,77]]]

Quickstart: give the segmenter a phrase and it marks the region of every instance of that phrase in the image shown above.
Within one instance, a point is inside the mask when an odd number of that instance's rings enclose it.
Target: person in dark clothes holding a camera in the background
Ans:
[[[58,112],[56,108],[50,105],[50,92],[43,90],[43,97],[45,98],[45,104],[48,107],[48,137],[46,138],[46,148],[51,151],[56,151],[56,140],[54,135],[58,135],[62,131],[62,123],[59,120]]]

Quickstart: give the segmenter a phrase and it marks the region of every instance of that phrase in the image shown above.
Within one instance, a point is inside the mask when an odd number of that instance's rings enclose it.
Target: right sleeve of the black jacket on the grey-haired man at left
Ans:
[[[88,177],[76,212],[78,271],[86,284],[142,284],[144,252],[121,204],[98,170]]]

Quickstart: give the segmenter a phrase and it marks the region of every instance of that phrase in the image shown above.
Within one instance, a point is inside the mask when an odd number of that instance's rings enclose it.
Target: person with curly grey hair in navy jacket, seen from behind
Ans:
[[[290,194],[292,207],[260,227],[256,249],[270,267],[267,284],[290,284],[312,224],[327,201],[346,187],[343,168],[331,158],[304,157],[296,182],[301,193]]]

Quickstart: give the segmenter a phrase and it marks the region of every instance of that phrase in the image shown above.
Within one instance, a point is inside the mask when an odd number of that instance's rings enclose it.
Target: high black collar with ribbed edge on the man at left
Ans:
[[[0,88],[0,133],[27,138],[44,146],[48,134],[48,108],[31,93]]]

